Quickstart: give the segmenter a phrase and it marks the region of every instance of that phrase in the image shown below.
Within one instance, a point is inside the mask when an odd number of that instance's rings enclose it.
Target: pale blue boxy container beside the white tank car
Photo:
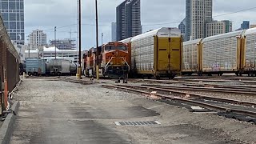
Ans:
[[[46,74],[46,61],[40,58],[27,58],[26,73],[29,75]]]

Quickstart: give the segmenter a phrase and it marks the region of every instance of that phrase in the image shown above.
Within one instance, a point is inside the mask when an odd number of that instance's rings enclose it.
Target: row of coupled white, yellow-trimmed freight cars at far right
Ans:
[[[183,42],[182,74],[256,76],[256,29]]]

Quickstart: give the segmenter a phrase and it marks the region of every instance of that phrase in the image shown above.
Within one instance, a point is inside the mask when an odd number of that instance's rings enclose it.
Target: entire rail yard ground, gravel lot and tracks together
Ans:
[[[10,143],[256,143],[256,78],[28,77]]]

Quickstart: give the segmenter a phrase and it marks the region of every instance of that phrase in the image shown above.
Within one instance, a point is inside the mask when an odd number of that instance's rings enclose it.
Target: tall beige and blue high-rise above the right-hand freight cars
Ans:
[[[186,0],[186,40],[204,38],[206,22],[212,21],[212,0]]]

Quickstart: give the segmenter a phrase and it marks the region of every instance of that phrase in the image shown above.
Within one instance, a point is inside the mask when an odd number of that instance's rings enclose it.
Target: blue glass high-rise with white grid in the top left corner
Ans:
[[[0,13],[10,40],[23,45],[25,43],[24,0],[1,0]]]

